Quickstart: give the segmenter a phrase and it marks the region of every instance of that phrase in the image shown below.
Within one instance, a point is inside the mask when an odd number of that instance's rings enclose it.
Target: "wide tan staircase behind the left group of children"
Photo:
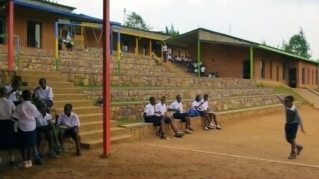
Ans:
[[[74,83],[62,76],[61,72],[45,71],[16,71],[28,89],[38,86],[39,78],[45,78],[48,86],[53,88],[54,106],[52,115],[63,112],[64,105],[71,103],[81,122],[81,146],[83,148],[99,147],[102,144],[102,111],[101,107],[95,106],[95,101],[88,100],[81,90],[75,88]],[[111,142],[129,140],[132,136],[126,130],[118,127],[117,121],[111,121]]]

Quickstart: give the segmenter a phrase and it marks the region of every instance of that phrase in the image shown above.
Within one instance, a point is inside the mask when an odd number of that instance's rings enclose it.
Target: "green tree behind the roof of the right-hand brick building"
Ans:
[[[288,42],[283,41],[282,50],[304,58],[311,58],[310,45],[301,27],[299,33],[290,37]]]

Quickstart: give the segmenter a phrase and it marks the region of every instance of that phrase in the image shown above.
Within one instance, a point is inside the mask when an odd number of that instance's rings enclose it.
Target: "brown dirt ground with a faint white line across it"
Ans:
[[[197,130],[182,139],[116,144],[108,159],[99,158],[101,149],[84,151],[81,157],[69,153],[47,160],[45,166],[9,170],[0,178],[317,179],[319,111],[307,106],[299,110],[306,134],[298,134],[304,151],[293,161],[287,159],[290,148],[284,140],[282,112],[228,123],[222,131]]]

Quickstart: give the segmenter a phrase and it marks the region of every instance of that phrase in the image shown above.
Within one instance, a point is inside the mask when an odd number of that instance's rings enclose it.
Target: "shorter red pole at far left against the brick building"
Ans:
[[[8,44],[8,68],[13,69],[13,16],[14,16],[14,4],[13,1],[10,0],[8,3],[8,36],[7,36],[7,44]]]

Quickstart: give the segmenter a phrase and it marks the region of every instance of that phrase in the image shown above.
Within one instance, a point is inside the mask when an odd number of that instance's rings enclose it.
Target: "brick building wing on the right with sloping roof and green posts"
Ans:
[[[173,56],[201,61],[220,78],[278,81],[290,87],[318,87],[318,62],[259,43],[199,28],[166,40]],[[177,49],[177,50],[174,50]]]

